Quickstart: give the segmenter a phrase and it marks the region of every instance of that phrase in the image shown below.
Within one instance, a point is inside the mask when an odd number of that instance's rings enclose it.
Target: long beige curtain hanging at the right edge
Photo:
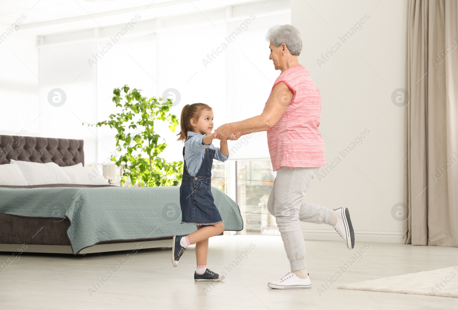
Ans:
[[[409,0],[403,243],[458,246],[458,5]]]

